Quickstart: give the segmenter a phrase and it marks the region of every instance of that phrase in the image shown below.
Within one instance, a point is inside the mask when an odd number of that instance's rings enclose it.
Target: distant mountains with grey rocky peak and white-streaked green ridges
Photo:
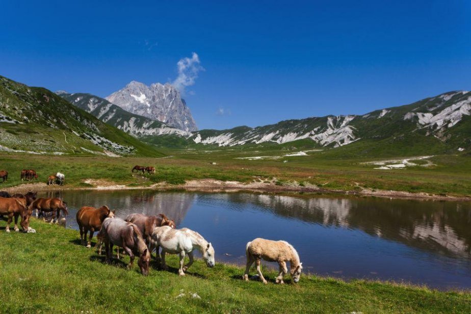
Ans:
[[[471,147],[468,136],[471,132],[471,93],[467,91],[447,92],[405,106],[380,109],[364,115],[310,117],[255,128],[239,126],[225,130],[203,129],[191,132],[185,127],[185,121],[193,121],[185,103],[180,103],[175,110],[167,111],[163,116],[172,117],[172,121],[183,121],[177,125],[179,128],[155,119],[162,115],[152,114],[154,119],[148,117],[148,112],[155,112],[151,109],[154,102],[148,99],[172,103],[168,96],[171,95],[173,101],[180,101],[177,92],[169,93],[172,90],[169,84],[152,86],[151,90],[159,92],[151,96],[148,94],[149,88],[144,84],[131,82],[123,90],[107,97],[109,100],[119,100],[119,107],[90,94],[62,92],[59,95],[103,122],[158,146],[349,146],[347,151],[362,155],[372,151],[397,155],[398,149],[405,148],[412,154],[444,153]],[[125,93],[137,87],[142,88],[142,93],[140,90]],[[136,113],[146,114],[147,117]],[[168,121],[170,120],[167,119]]]

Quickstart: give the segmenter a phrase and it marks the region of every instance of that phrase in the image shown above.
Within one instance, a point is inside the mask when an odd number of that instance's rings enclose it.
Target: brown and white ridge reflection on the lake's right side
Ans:
[[[464,202],[384,198],[298,198],[280,195],[226,194],[283,217],[360,229],[373,236],[426,251],[469,258],[471,206]]]

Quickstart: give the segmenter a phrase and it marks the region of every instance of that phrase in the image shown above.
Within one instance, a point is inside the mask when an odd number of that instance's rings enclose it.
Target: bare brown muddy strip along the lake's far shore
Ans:
[[[471,201],[471,196],[454,196],[454,195],[437,195],[431,193],[411,193],[406,191],[386,191],[363,189],[361,191],[344,191],[321,189],[316,186],[299,186],[299,185],[277,185],[273,182],[252,182],[244,184],[239,181],[221,181],[216,179],[193,179],[188,180],[185,184],[172,185],[167,182],[160,182],[150,186],[128,186],[118,185],[115,182],[107,180],[87,179],[84,181],[89,187],[64,187],[64,186],[48,186],[42,182],[27,183],[14,187],[2,189],[10,194],[26,193],[29,191],[36,192],[52,192],[52,191],[115,191],[115,190],[155,190],[155,191],[189,191],[189,192],[253,192],[253,193],[303,193],[303,194],[332,194],[344,196],[369,196],[383,197],[394,199],[415,199],[415,200],[436,200],[436,201]]]

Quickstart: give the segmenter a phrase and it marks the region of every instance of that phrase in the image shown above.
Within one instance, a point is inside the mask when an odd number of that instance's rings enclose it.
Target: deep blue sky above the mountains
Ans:
[[[5,1],[0,75],[108,96],[204,71],[199,128],[362,114],[471,89],[469,1]]]

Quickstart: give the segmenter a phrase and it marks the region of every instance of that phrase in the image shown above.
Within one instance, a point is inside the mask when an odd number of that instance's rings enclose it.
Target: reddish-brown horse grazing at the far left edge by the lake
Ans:
[[[3,217],[3,215],[6,215],[8,218]],[[31,214],[27,210],[26,199],[0,197],[0,217],[7,222],[5,231],[10,232],[10,224],[13,217],[15,217],[15,231],[19,231],[19,216],[21,216],[20,226],[23,232],[28,232]]]

